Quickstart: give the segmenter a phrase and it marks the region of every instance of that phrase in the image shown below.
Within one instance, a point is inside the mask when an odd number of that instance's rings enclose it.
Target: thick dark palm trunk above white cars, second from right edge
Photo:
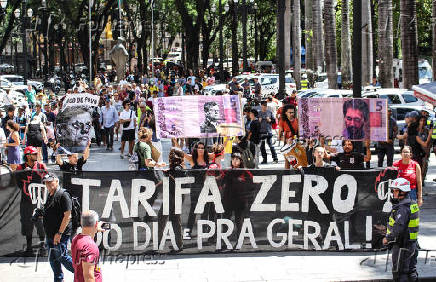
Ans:
[[[419,83],[416,3],[400,0],[401,49],[403,53],[403,87],[410,89]]]

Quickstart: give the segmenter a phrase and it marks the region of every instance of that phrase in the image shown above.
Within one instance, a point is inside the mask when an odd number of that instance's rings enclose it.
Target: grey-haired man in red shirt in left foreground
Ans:
[[[95,211],[85,211],[81,218],[82,233],[74,237],[71,243],[73,257],[74,282],[101,282],[101,269],[98,265],[100,252],[94,242],[99,228],[98,214]]]

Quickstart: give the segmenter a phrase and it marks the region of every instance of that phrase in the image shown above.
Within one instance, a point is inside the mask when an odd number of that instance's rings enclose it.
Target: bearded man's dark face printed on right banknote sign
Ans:
[[[364,100],[351,99],[343,104],[345,128],[342,135],[345,139],[365,139],[365,131],[369,122],[369,107]]]

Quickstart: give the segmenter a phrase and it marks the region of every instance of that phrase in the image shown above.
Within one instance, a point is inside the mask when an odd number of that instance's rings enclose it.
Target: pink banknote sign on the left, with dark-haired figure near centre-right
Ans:
[[[237,95],[156,98],[153,108],[160,138],[244,134],[241,102]]]

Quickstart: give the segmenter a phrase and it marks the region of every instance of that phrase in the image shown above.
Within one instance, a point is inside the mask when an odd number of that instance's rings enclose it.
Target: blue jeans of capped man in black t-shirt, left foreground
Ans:
[[[67,250],[67,244],[69,240],[70,236],[62,235],[60,243],[55,245],[52,238],[46,239],[48,260],[54,273],[55,282],[63,281],[64,279],[64,273],[62,272],[61,264],[63,264],[67,270],[74,273],[73,261]]]

